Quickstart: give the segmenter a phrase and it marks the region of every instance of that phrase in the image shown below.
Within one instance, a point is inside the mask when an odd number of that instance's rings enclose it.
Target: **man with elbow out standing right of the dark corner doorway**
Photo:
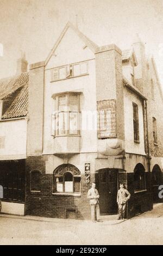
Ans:
[[[124,184],[120,184],[120,189],[117,193],[117,204],[118,204],[118,219],[124,219],[126,212],[126,203],[130,198],[130,193],[124,187]]]

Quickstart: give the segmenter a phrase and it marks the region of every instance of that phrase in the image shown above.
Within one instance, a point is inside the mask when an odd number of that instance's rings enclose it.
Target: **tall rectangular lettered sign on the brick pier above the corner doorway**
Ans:
[[[97,102],[98,112],[98,139],[116,138],[116,100],[102,100]]]

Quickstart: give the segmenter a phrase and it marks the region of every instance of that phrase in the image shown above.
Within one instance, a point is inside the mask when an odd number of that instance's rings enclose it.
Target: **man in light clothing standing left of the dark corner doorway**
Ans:
[[[87,192],[87,198],[90,199],[92,222],[96,222],[96,218],[97,222],[101,222],[99,220],[99,194],[95,183],[92,183],[91,189]]]

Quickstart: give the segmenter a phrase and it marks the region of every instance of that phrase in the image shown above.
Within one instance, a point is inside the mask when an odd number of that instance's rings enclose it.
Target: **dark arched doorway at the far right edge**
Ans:
[[[159,186],[162,184],[162,172],[158,164],[155,164],[152,170],[152,193],[153,203],[160,203]]]

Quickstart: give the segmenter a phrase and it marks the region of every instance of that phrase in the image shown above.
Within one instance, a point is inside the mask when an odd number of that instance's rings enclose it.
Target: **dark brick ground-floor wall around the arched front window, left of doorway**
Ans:
[[[84,175],[81,177],[81,197],[54,195],[52,194],[53,175],[45,173],[45,159],[43,156],[28,157],[26,168],[26,215],[66,218],[66,211],[75,210],[76,218],[91,218],[90,204],[87,199],[87,191],[91,188],[91,183],[85,183]],[[30,171],[32,170],[40,170],[42,173],[41,192],[30,192]],[[91,175],[91,182],[95,182],[95,175]]]

